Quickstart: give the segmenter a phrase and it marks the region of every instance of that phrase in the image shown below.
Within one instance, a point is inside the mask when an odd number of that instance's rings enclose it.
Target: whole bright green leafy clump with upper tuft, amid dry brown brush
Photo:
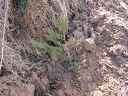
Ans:
[[[64,58],[64,32],[66,31],[67,25],[64,20],[56,20],[55,26],[58,30],[49,28],[46,40],[32,40],[33,48],[39,49],[41,53],[48,55],[52,60]]]

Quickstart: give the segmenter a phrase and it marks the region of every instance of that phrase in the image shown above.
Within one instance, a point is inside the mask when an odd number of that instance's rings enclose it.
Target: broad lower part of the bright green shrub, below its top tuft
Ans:
[[[55,32],[52,29],[48,31],[48,37],[46,41],[32,40],[33,48],[39,49],[43,54],[47,54],[52,60],[63,58],[64,56],[64,35],[59,32]]]

